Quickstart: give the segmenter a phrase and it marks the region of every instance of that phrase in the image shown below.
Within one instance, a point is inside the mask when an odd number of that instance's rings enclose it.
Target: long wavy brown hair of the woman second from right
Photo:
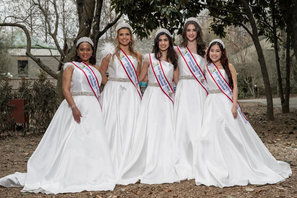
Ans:
[[[193,24],[196,28],[196,32],[197,32],[197,37],[196,37],[196,50],[197,50],[197,54],[204,57],[205,55],[205,49],[206,49],[206,44],[203,41],[203,33],[202,30],[200,28],[200,25],[197,24],[195,21],[188,21],[187,23],[185,23],[185,25],[183,26],[183,32],[182,32],[182,42],[180,43],[180,46],[186,47],[187,43],[188,43],[188,39],[187,39],[187,28],[189,24]]]

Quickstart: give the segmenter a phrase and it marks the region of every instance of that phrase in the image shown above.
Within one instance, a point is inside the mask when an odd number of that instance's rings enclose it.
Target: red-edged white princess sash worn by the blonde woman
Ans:
[[[120,48],[120,57],[118,57],[118,59],[120,60],[120,62],[122,64],[127,76],[129,77],[132,84],[136,88],[136,90],[137,90],[137,92],[138,92],[138,94],[140,96],[140,99],[142,99],[142,95],[141,95],[141,91],[140,91],[138,77],[136,75],[135,67],[134,67],[132,61],[129,59],[129,57],[125,54],[125,52],[121,48]]]

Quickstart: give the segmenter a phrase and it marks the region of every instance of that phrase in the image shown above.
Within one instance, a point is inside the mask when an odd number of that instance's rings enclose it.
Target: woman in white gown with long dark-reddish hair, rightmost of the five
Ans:
[[[237,103],[236,71],[228,63],[220,39],[210,42],[207,60],[209,95],[196,141],[196,185],[227,187],[284,181],[292,174],[290,165],[269,153],[243,115]]]

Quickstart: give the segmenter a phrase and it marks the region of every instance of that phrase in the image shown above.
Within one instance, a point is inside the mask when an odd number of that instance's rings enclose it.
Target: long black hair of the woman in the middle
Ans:
[[[169,47],[167,49],[167,57],[166,57],[166,61],[167,62],[171,62],[172,65],[174,66],[174,69],[176,69],[177,67],[177,61],[178,61],[178,56],[173,48],[173,41],[172,41],[172,38],[166,34],[165,32],[160,32],[157,37],[155,38],[155,41],[154,41],[154,47],[153,47],[153,53],[155,54],[155,58],[158,58],[159,60],[161,60],[161,57],[162,57],[162,53],[159,49],[159,37],[161,35],[165,35],[167,38],[168,38],[168,41],[169,41]]]

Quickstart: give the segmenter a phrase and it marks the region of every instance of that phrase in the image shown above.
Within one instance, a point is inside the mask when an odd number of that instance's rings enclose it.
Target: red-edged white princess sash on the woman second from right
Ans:
[[[192,75],[199,82],[199,84],[205,89],[206,94],[208,94],[209,89],[207,87],[207,81],[204,76],[204,73],[201,70],[201,68],[199,67],[197,61],[195,60],[195,58],[194,58],[193,54],[191,53],[191,51],[189,50],[189,48],[177,46],[177,49],[179,50],[179,53],[182,55],[183,60],[186,62]]]

